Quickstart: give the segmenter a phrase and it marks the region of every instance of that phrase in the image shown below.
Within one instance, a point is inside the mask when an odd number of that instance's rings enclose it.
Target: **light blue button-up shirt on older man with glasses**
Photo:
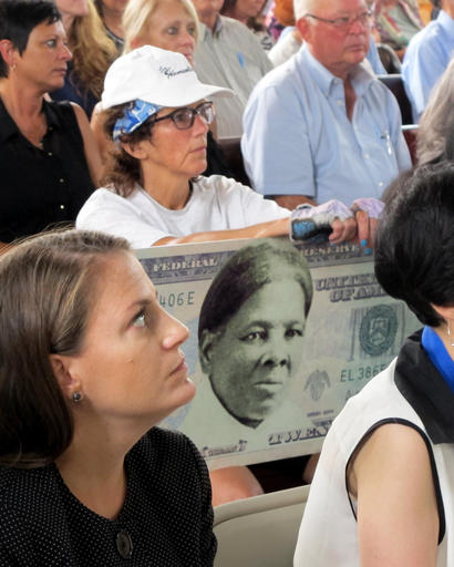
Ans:
[[[411,167],[391,91],[362,65],[352,84],[357,102],[350,122],[342,80],[307,45],[258,83],[241,140],[256,190],[350,205],[358,197],[380,197],[400,171]]]

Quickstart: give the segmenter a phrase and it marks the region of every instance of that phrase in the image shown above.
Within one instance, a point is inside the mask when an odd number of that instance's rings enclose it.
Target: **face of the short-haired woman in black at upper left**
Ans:
[[[43,22],[30,32],[22,55],[16,52],[14,73],[43,93],[52,92],[63,86],[71,58],[62,22]]]

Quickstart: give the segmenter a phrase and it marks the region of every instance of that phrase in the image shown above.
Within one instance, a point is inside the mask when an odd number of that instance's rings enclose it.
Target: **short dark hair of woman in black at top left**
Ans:
[[[22,53],[30,32],[40,23],[61,20],[55,4],[50,0],[0,0],[0,40],[10,40]],[[0,76],[8,76],[8,65],[0,54]]]

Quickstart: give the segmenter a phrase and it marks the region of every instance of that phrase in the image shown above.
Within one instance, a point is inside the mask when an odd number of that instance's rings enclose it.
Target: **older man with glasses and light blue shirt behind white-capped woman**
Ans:
[[[411,167],[391,92],[362,66],[363,0],[295,0],[306,44],[254,90],[244,115],[246,169],[257,190],[300,203],[380,197]]]

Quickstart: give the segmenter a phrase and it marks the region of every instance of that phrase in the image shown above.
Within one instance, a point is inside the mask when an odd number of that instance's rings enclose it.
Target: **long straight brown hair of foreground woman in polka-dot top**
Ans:
[[[123,238],[69,230],[23,241],[0,258],[0,466],[53,462],[73,436],[51,353],[76,354],[106,255]]]

